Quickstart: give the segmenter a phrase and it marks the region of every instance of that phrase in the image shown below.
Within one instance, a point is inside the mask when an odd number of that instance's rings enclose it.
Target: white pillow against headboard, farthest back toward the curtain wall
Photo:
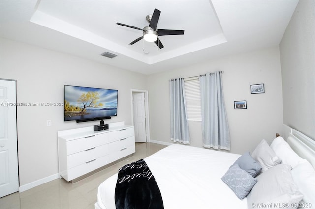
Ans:
[[[276,155],[281,159],[282,164],[291,165],[292,168],[294,168],[299,163],[305,162],[306,160],[298,156],[292,150],[290,145],[284,141],[284,138],[281,136],[275,138],[270,147],[275,151]]]

